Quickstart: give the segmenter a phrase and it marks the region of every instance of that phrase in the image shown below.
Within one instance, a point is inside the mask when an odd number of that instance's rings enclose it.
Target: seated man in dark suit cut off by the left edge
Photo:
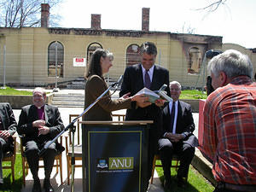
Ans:
[[[15,115],[8,102],[0,103],[0,184],[3,184],[3,154],[14,151],[13,135],[17,129]]]

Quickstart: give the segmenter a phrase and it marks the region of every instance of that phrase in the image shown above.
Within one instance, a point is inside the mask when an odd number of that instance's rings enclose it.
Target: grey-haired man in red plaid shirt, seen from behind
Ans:
[[[214,91],[204,107],[202,147],[213,160],[214,192],[256,191],[256,83],[247,55],[230,49],[208,64]]]

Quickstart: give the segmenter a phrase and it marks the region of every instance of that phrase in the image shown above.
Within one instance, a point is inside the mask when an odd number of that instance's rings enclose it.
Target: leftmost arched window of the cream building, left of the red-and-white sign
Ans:
[[[57,76],[63,78],[64,48],[60,42],[52,42],[48,47],[48,77]]]

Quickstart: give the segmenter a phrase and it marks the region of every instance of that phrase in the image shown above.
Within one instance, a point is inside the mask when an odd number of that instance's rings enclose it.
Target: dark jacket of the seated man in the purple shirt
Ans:
[[[34,105],[21,108],[17,131],[19,135],[24,136],[23,144],[28,141],[45,143],[55,138],[64,129],[58,108],[45,104],[44,115],[45,125],[49,127],[49,133],[38,136],[38,128],[32,127],[32,122],[38,120],[37,108]]]

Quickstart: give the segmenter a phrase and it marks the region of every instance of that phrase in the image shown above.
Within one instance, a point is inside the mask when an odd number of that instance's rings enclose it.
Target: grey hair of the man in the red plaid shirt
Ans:
[[[228,49],[224,53],[214,56],[208,63],[208,73],[218,77],[220,72],[226,73],[228,78],[246,75],[253,78],[253,64],[247,55]]]

